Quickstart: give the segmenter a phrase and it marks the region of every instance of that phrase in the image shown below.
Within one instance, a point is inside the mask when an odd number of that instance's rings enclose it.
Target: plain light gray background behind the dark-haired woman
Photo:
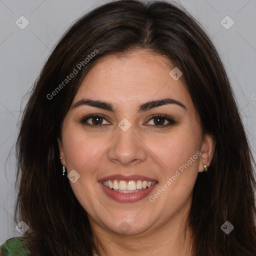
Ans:
[[[104,2],[108,1],[0,0],[0,244],[21,235],[13,221],[17,192],[13,145],[20,112],[27,101],[27,97],[23,100],[22,97],[31,88],[62,33],[81,14]],[[255,0],[176,2],[202,24],[219,51],[255,157]],[[24,29],[15,23],[22,15],[29,21]],[[234,21],[229,29],[220,23],[226,15]],[[223,22],[230,24],[225,19]]]

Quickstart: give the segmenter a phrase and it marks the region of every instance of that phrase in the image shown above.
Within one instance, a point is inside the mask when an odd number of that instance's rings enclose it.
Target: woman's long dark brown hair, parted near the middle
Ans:
[[[203,134],[212,134],[215,141],[211,164],[207,172],[198,173],[193,189],[188,216],[193,255],[255,256],[255,161],[219,55],[181,6],[137,0],[106,3],[76,20],[31,90],[16,143],[15,221],[19,222],[18,215],[29,225],[32,255],[91,256],[93,248],[100,255],[87,214],[62,176],[57,138],[77,89],[96,60],[136,49],[164,55],[183,72]],[[74,77],[65,80],[74,69]],[[220,228],[226,220],[234,226],[229,234]]]

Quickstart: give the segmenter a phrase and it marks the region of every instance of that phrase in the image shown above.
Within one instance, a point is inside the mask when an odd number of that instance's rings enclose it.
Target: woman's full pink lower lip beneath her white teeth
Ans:
[[[147,196],[156,186],[157,182],[155,182],[150,187],[140,190],[138,192],[134,193],[120,193],[116,192],[111,188],[108,188],[103,185],[102,181],[99,181],[99,184],[101,185],[103,191],[112,199],[118,201],[118,202],[135,202],[138,200],[143,199],[145,196]]]

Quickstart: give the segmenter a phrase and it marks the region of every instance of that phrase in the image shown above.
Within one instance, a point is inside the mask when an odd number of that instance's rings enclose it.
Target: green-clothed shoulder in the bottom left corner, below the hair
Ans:
[[[0,246],[0,256],[31,255],[28,250],[28,236],[17,236],[7,239]]]

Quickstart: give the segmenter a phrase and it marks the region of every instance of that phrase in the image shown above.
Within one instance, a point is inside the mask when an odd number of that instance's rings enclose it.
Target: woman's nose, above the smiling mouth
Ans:
[[[107,157],[110,161],[125,166],[142,162],[146,159],[146,145],[134,132],[134,126],[123,131],[117,127],[115,136],[111,139]]]

